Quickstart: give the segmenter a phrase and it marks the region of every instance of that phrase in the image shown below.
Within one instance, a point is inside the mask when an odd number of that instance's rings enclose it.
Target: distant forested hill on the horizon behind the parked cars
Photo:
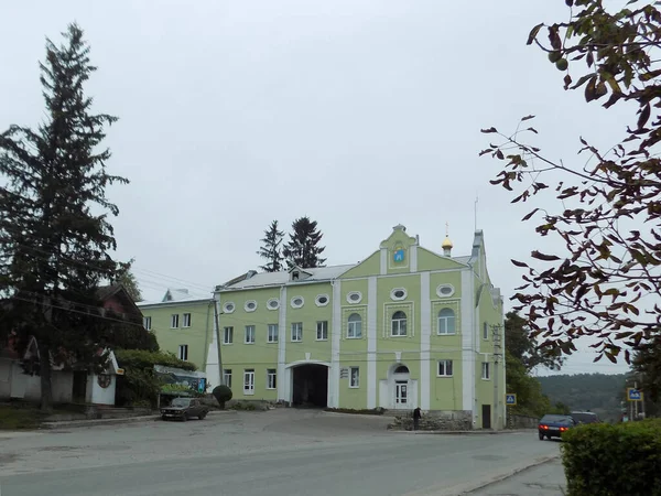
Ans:
[[[572,410],[590,410],[603,420],[616,420],[625,393],[625,375],[577,374],[538,377],[551,403],[562,401]]]

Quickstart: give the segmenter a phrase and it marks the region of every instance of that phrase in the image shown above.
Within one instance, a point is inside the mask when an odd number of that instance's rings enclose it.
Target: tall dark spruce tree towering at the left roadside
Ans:
[[[116,241],[106,198],[113,183],[104,128],[117,120],[91,114],[84,84],[96,67],[83,31],[71,24],[56,46],[46,40],[41,67],[45,118],[36,129],[11,126],[0,134],[2,282],[11,296],[11,330],[24,348],[39,345],[41,407],[52,408],[54,364],[99,366],[112,342],[99,309],[101,281],[117,277]],[[8,327],[4,327],[8,328]]]

